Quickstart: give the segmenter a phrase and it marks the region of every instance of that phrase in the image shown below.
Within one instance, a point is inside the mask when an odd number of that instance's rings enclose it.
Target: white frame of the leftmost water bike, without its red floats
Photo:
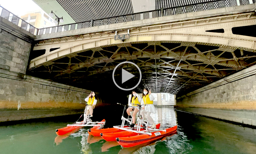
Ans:
[[[87,106],[88,106],[88,104],[86,104],[86,106],[85,106],[84,120],[82,122],[76,122],[76,124],[68,124],[67,126],[101,126],[99,128],[99,129],[101,129],[105,125],[105,121],[104,122],[98,122],[98,121],[92,122],[92,120],[90,118],[90,114],[86,115]]]

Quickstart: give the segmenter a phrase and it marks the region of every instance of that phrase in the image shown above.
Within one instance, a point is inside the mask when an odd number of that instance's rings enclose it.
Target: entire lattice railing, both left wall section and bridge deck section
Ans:
[[[249,0],[239,0],[239,2],[240,2],[240,5],[250,4]],[[253,0],[253,3],[255,2],[256,1]],[[22,29],[29,31],[31,34],[42,35],[42,34],[57,33],[57,32],[68,31],[68,30],[94,27],[94,26],[109,25],[114,23],[136,21],[141,19],[158,18],[163,16],[184,14],[189,12],[212,10],[212,9],[218,9],[218,8],[230,7],[230,6],[237,6],[237,0],[213,0],[208,2],[176,6],[176,7],[170,7],[165,9],[161,8],[158,10],[138,12],[138,13],[121,15],[121,16],[109,17],[109,18],[101,18],[96,20],[92,19],[90,21],[76,22],[76,23],[46,27],[46,28],[35,28],[31,24],[19,18],[18,16],[14,15],[13,13],[6,10],[2,6],[0,6],[0,9],[2,8],[1,17],[6,18],[7,20],[9,20],[10,22],[14,23],[17,26],[20,26]]]

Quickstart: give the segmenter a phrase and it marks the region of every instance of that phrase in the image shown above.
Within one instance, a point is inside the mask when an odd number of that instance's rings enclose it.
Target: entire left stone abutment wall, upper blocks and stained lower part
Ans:
[[[80,102],[89,90],[25,75],[34,38],[0,17],[0,122],[71,115],[85,108]]]

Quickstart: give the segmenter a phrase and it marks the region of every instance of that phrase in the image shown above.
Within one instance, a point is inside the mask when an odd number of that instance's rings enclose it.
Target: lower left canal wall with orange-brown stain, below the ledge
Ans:
[[[3,69],[0,83],[0,122],[82,113],[91,92]]]

